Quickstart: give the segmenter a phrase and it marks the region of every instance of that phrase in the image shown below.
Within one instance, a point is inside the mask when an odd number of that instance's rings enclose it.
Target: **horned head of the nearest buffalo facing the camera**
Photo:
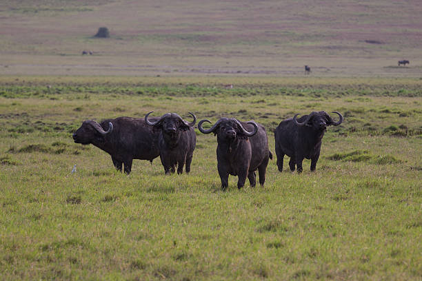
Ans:
[[[254,134],[257,134],[258,132],[258,125],[254,121],[247,122],[254,126],[254,131],[252,132],[248,132],[236,118],[220,118],[210,129],[204,129],[202,127],[204,122],[211,123],[207,119],[199,121],[199,131],[203,134],[217,134],[221,139],[232,140],[237,137],[246,138],[248,136],[254,136]]]

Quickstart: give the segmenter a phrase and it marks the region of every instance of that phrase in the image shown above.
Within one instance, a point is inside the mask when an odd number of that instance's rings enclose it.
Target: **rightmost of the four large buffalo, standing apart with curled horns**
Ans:
[[[290,170],[302,172],[303,158],[311,160],[310,170],[315,171],[316,162],[321,152],[321,143],[327,126],[338,126],[343,122],[343,116],[339,112],[340,120],[334,122],[326,112],[311,112],[297,120],[296,114],[293,118],[281,121],[274,131],[275,149],[277,154],[277,167],[283,171],[284,155],[290,157]]]

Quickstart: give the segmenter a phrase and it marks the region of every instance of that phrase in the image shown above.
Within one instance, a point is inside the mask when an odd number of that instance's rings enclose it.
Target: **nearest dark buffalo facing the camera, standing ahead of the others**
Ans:
[[[228,187],[228,176],[238,176],[237,188],[245,185],[248,177],[251,187],[256,184],[255,171],[259,172],[259,183],[265,183],[265,172],[272,154],[268,149],[265,128],[254,121],[240,122],[236,118],[220,118],[210,129],[204,129],[204,122],[198,123],[203,134],[217,135],[217,169],[221,178],[221,188]]]

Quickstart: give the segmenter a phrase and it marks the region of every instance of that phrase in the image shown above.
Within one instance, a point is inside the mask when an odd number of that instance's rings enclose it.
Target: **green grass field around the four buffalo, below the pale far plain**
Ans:
[[[1,76],[0,278],[421,280],[421,84]],[[315,173],[309,160],[301,175],[279,173],[274,159],[265,187],[240,191],[236,177],[221,191],[210,135],[198,132],[181,176],[159,159],[125,176],[72,142],[83,120],[152,110],[254,119],[273,154],[283,118],[337,110],[345,121],[328,129]]]

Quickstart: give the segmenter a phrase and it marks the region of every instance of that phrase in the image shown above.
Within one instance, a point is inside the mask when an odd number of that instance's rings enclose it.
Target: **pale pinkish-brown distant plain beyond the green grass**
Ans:
[[[420,77],[421,14],[419,0],[6,0],[0,74]]]

